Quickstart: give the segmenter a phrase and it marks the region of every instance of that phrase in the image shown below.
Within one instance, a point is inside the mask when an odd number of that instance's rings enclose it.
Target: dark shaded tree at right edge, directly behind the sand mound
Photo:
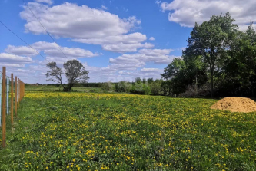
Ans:
[[[222,71],[225,76],[222,91],[228,95],[254,97],[256,86],[256,34],[252,24],[247,31],[239,31],[228,51]],[[229,89],[229,90],[227,90]],[[223,93],[222,93],[223,94]]]

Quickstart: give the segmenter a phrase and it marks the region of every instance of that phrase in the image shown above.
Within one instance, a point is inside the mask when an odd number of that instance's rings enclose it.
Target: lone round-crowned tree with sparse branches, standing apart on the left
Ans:
[[[88,77],[88,71],[85,70],[83,64],[78,60],[70,60],[63,64],[64,72],[62,68],[58,67],[56,62],[49,62],[46,65],[50,70],[47,71],[47,81],[54,81],[61,84],[63,91],[71,91],[71,88],[77,83],[85,83]],[[65,73],[67,78],[67,84],[62,82],[62,74]]]

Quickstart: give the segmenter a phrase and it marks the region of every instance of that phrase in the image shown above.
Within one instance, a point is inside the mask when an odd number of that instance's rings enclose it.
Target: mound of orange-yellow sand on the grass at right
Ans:
[[[226,97],[210,107],[211,109],[229,110],[231,112],[254,112],[256,103],[254,100],[244,97]]]

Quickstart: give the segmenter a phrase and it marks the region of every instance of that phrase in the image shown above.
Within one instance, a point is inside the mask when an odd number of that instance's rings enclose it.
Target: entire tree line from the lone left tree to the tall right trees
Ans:
[[[180,97],[255,97],[256,33],[252,22],[240,31],[229,13],[213,15],[201,25],[195,23],[188,45],[180,58],[174,58],[161,74],[162,79],[135,82],[88,83],[88,71],[77,60],[47,67],[46,77],[71,91],[73,86],[102,87],[105,91]],[[62,74],[68,83],[62,81]]]

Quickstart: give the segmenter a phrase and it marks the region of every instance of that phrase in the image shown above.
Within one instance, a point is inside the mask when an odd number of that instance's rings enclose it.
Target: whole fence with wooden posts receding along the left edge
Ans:
[[[17,76],[6,75],[6,67],[0,71],[0,130],[2,129],[2,148],[6,147],[6,115],[11,115],[13,126],[14,111],[17,118],[19,103],[25,95],[25,83]],[[10,98],[11,97],[11,98]]]

